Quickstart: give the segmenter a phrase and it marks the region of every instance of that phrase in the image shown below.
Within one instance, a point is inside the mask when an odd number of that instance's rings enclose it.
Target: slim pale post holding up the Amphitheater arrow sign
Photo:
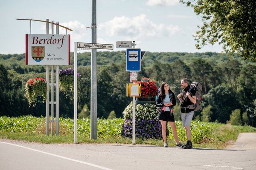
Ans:
[[[77,143],[77,42],[74,51],[74,143]]]

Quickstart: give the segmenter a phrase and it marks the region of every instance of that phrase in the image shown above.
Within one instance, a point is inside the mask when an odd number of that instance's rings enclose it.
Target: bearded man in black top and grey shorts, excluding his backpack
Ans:
[[[181,88],[183,88],[183,91],[177,96],[177,98],[181,102],[181,120],[183,127],[186,128],[186,136],[188,139],[186,145],[183,148],[192,149],[193,146],[191,142],[190,124],[194,116],[194,104],[196,103],[195,91],[193,89],[189,89],[189,79],[182,79],[180,81],[180,85]]]

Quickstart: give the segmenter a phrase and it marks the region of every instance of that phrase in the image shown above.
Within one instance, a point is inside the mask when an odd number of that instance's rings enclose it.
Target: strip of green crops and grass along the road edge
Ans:
[[[60,117],[59,136],[45,136],[45,118],[35,116],[8,117],[0,116],[0,138],[20,139],[32,142],[56,143],[73,142],[74,120]],[[78,138],[80,142],[112,142],[131,143],[130,139],[121,138],[121,130],[124,120],[98,119],[98,140],[90,141],[90,119],[78,119]],[[176,121],[177,133],[180,141],[186,141],[186,130],[182,127],[181,121]],[[172,133],[171,127],[169,127]],[[192,121],[191,133],[192,141],[195,144],[204,144],[202,147],[223,147],[223,143],[236,140],[239,132],[256,132],[256,128],[249,126],[231,126],[220,123],[207,123]],[[104,140],[108,139],[108,140]],[[151,139],[152,140],[152,139]],[[162,139],[154,140],[136,139],[140,144],[162,144]],[[171,143],[175,144],[172,135],[169,136]]]

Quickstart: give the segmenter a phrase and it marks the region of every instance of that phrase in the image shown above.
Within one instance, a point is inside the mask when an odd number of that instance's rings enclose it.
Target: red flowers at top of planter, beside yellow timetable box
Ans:
[[[137,83],[141,83],[141,96],[145,96],[145,97],[157,96],[158,94],[157,84],[150,78],[144,77],[142,81],[137,81]]]

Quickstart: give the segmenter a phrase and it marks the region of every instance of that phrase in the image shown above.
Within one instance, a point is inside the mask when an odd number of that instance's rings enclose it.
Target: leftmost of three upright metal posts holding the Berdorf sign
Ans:
[[[49,19],[46,20],[46,34],[49,34]],[[46,72],[45,79],[47,82],[47,99],[45,102],[45,112],[46,112],[46,115],[45,115],[45,119],[46,119],[45,131],[46,132],[45,133],[46,133],[46,136],[49,136],[49,65],[45,66],[45,72]]]

